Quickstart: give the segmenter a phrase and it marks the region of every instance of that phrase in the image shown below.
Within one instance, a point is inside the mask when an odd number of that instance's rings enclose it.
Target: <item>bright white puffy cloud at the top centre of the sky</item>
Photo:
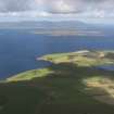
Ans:
[[[51,0],[47,8],[51,13],[78,13],[84,10],[80,7],[80,2],[75,0]]]

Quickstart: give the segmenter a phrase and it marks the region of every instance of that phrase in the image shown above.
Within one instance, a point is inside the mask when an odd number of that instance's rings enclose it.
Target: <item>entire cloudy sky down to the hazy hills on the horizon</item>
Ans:
[[[0,0],[0,21],[114,21],[114,0]]]

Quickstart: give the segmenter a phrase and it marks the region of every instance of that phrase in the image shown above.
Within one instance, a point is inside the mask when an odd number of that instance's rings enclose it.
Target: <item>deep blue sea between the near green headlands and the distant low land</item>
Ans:
[[[37,56],[84,49],[113,50],[114,35],[105,36],[48,36],[29,30],[0,30],[0,78],[49,65]]]

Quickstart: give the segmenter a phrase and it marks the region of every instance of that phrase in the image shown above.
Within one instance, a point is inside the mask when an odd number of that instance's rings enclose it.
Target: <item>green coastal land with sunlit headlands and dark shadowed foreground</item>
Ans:
[[[0,83],[0,114],[114,114],[114,51],[83,50],[37,59],[49,67]]]

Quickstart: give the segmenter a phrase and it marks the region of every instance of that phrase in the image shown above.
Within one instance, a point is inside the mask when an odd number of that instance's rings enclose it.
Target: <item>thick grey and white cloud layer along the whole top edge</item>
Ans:
[[[45,11],[51,14],[93,14],[114,12],[114,0],[0,0],[0,12]],[[93,13],[92,13],[93,12]]]

